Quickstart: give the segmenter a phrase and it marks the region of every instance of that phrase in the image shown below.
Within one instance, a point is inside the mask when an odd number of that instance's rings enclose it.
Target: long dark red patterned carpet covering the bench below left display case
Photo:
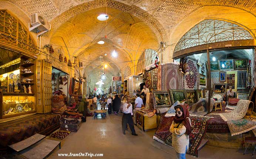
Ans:
[[[6,146],[22,141],[38,133],[50,135],[60,128],[60,115],[34,114],[16,120],[0,123],[0,152],[6,151]]]

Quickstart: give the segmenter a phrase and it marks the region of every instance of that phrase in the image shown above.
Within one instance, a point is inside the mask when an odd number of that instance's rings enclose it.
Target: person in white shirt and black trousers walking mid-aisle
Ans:
[[[130,97],[126,97],[126,103],[124,103],[123,105],[123,117],[122,117],[122,131],[123,134],[125,135],[125,130],[127,128],[127,123],[129,124],[129,127],[132,131],[132,135],[134,136],[138,136],[138,134],[136,134],[135,129],[134,129],[134,124],[132,121],[132,104],[130,103],[131,99]]]

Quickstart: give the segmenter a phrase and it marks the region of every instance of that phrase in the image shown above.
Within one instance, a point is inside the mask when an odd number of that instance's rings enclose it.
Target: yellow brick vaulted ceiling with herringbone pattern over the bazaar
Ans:
[[[97,44],[104,37],[104,22],[97,21],[105,13],[108,37],[106,46],[121,48],[122,60],[133,61],[135,68],[144,49],[158,49],[161,41],[169,39],[172,31],[189,15],[207,6],[223,6],[243,10],[256,17],[255,0],[9,0],[29,17],[40,13],[51,23],[51,31],[44,35],[48,43],[72,46],[68,56],[96,54],[110,51]],[[98,35],[98,36],[97,36]],[[181,35],[182,36],[182,35]],[[62,42],[60,42],[62,41]],[[85,49],[88,47],[87,49]],[[82,49],[81,49],[82,48]],[[95,49],[98,48],[98,49]],[[84,60],[88,60],[87,56]],[[114,59],[109,59],[114,61]],[[124,63],[117,64],[125,68]],[[132,71],[135,72],[132,68]]]

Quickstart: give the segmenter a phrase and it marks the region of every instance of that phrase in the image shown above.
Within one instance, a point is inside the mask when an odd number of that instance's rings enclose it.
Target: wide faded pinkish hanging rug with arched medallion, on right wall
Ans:
[[[179,65],[168,63],[161,66],[161,90],[183,89],[183,74],[179,71]]]

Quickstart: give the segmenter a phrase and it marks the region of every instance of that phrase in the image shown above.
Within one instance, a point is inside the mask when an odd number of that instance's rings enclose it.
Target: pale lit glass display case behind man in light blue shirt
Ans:
[[[127,79],[127,87],[130,97],[139,92],[139,85],[142,83],[142,76],[133,75]]]

